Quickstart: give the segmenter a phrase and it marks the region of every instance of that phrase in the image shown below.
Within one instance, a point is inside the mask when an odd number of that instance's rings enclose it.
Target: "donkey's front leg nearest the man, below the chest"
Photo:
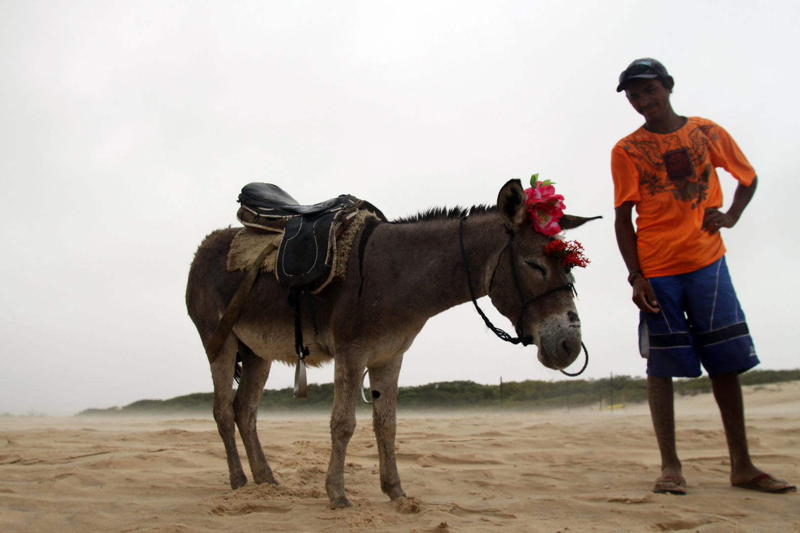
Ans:
[[[378,441],[381,490],[391,499],[405,496],[400,486],[394,436],[397,433],[398,376],[402,355],[377,368],[370,368],[372,427]]]

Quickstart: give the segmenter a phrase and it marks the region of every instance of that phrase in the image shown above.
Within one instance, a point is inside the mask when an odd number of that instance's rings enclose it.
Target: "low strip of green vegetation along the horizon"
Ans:
[[[752,370],[740,376],[743,385],[758,385],[800,380],[800,369],[796,370]],[[674,381],[675,393],[692,395],[711,392],[708,376]],[[234,391],[235,394],[235,391]],[[613,384],[609,378],[602,380],[564,380],[564,381],[511,381],[503,384],[503,408],[509,411],[530,411],[537,409],[566,408],[567,401],[572,408],[586,405],[609,405],[611,397],[614,404],[636,404],[646,401],[647,384],[644,378],[614,376]],[[569,398],[569,400],[567,400]],[[334,384],[310,384],[308,398],[297,400],[292,396],[292,388],[280,390],[266,389],[262,393],[264,412],[330,412],[334,403]],[[197,392],[178,396],[170,400],[139,400],[123,408],[86,409],[86,415],[208,415],[214,404],[214,394]],[[400,412],[419,412],[433,410],[473,410],[499,409],[500,386],[481,385],[472,381],[446,381],[418,387],[401,387],[398,394]],[[370,406],[358,401],[359,411],[369,411]]]

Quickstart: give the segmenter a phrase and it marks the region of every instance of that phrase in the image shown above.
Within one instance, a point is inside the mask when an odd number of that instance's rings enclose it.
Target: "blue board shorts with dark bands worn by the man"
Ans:
[[[639,351],[648,376],[746,372],[758,364],[725,257],[676,276],[648,278],[661,312],[639,312]]]

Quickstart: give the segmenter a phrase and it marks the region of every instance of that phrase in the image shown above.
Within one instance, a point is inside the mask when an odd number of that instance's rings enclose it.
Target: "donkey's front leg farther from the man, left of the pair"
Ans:
[[[345,495],[345,455],[355,431],[355,404],[363,366],[337,354],[334,368],[334,410],[330,414],[330,463],[325,478],[330,509],[350,507]]]

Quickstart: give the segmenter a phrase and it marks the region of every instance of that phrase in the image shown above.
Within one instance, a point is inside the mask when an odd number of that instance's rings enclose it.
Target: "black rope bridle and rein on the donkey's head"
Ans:
[[[464,249],[464,221],[466,221],[466,215],[463,215],[461,219],[458,221],[458,244],[461,245],[461,257],[464,260],[464,269],[466,270],[466,284],[470,287],[470,298],[472,298],[472,304],[475,306],[475,310],[478,312],[478,315],[481,316],[483,319],[484,324],[486,327],[492,330],[495,335],[500,337],[501,340],[505,340],[506,342],[510,342],[511,344],[522,344],[522,346],[528,346],[534,343],[534,337],[530,335],[525,335],[525,323],[523,319],[525,318],[525,313],[528,310],[528,306],[533,304],[537,300],[542,300],[542,298],[546,296],[550,296],[559,291],[570,291],[575,293],[575,287],[569,281],[566,284],[559,285],[556,288],[551,288],[546,292],[542,292],[529,300],[525,299],[525,295],[522,293],[522,287],[519,285],[519,277],[517,276],[517,266],[514,264],[514,230],[509,229],[506,227],[506,233],[508,234],[508,244],[505,248],[502,249],[500,255],[498,256],[498,263],[494,266],[494,271],[492,272],[492,276],[489,280],[489,292],[492,290],[492,283],[494,282],[494,274],[497,273],[498,267],[500,266],[500,260],[502,258],[502,254],[506,253],[506,249],[508,250],[508,257],[511,264],[511,278],[514,280],[514,286],[517,288],[517,293],[519,295],[519,300],[522,303],[522,309],[519,312],[519,318],[517,319],[517,324],[514,325],[514,329],[517,332],[516,337],[510,336],[508,333],[504,332],[502,329],[496,327],[494,324],[491,323],[489,317],[484,314],[482,309],[478,306],[478,300],[475,298],[475,289],[472,285],[472,276],[470,275],[470,264],[466,260],[466,249]],[[583,348],[584,354],[586,354],[586,363],[583,364],[583,368],[581,368],[578,372],[574,374],[570,374],[570,372],[564,372],[561,370],[562,374],[566,374],[566,376],[580,376],[584,370],[586,370],[586,366],[589,364],[589,352],[586,350],[586,345],[581,343]]]

